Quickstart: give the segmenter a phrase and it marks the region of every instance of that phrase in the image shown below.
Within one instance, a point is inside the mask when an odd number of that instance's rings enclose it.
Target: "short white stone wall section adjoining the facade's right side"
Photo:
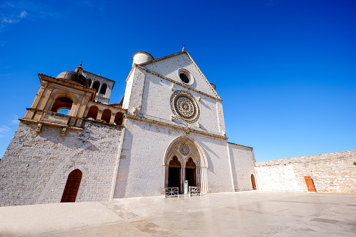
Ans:
[[[255,175],[253,148],[228,143],[234,190],[252,190],[251,175]]]

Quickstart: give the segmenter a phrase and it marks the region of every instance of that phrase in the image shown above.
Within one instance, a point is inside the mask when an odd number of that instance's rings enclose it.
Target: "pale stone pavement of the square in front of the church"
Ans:
[[[228,192],[0,208],[0,236],[356,236],[356,194]]]

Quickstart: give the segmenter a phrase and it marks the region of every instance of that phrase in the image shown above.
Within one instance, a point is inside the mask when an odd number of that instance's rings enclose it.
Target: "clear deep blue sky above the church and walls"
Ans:
[[[0,1],[0,157],[37,73],[83,69],[124,94],[136,51],[182,43],[257,161],[356,148],[356,1]]]

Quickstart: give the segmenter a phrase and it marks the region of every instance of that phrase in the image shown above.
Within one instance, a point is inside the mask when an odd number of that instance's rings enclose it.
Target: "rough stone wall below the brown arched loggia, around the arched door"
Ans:
[[[0,162],[0,206],[55,203],[66,179],[83,173],[76,201],[109,201],[113,195],[121,127],[87,121],[83,131],[20,122]]]

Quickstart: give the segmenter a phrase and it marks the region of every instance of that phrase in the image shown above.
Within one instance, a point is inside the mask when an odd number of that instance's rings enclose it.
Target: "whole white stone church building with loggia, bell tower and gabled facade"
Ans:
[[[115,81],[81,66],[38,74],[0,162],[1,206],[256,188],[253,149],[228,142],[222,99],[188,52],[132,59],[118,103]]]

